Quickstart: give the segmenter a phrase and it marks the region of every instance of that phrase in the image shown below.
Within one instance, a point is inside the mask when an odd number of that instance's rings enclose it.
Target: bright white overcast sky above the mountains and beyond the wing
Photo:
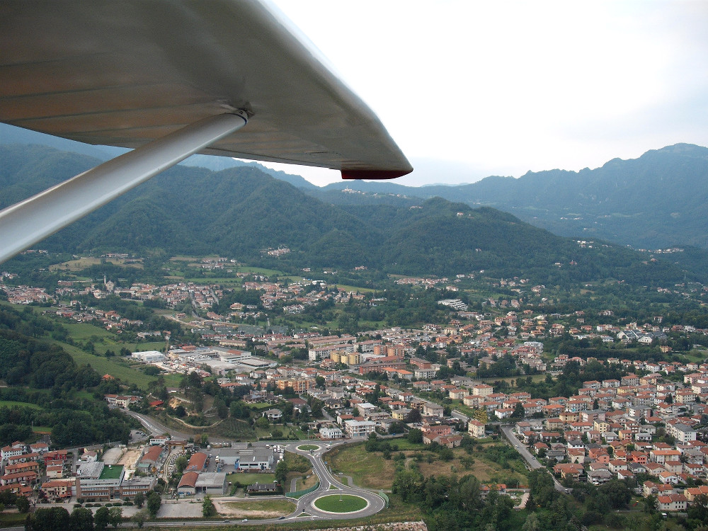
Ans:
[[[708,145],[708,1],[273,0],[379,115],[396,182]],[[278,166],[322,185],[335,171]]]

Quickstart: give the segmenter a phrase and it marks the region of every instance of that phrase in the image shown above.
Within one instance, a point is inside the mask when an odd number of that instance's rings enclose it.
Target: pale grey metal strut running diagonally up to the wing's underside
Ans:
[[[0,211],[0,263],[244,127],[244,110],[205,118]]]

